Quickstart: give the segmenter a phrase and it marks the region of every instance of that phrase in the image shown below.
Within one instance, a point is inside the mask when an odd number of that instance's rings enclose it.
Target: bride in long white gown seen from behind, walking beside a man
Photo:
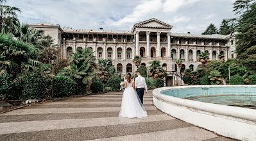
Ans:
[[[124,81],[124,93],[121,104],[121,110],[119,117],[128,117],[128,118],[141,118],[147,117],[148,114],[143,107],[139,96],[135,92],[134,80],[131,79],[131,74],[128,73],[126,80]]]

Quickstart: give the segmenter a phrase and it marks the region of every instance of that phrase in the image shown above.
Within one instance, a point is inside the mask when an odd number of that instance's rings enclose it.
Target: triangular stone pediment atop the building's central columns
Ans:
[[[135,28],[165,28],[165,29],[171,29],[173,26],[166,24],[165,22],[159,21],[158,19],[149,19],[144,22],[139,22],[133,26],[132,32],[135,30]]]

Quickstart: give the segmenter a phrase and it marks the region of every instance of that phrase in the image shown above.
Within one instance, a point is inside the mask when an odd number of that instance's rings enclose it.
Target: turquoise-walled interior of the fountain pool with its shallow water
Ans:
[[[205,103],[256,109],[255,87],[183,88],[167,90],[162,94]]]

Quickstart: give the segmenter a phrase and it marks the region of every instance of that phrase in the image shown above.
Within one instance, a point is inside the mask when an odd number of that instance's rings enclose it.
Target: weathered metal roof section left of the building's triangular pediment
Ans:
[[[100,33],[100,34],[129,34],[133,35],[131,31],[125,30],[105,30],[105,29],[73,29],[62,28],[65,33]]]

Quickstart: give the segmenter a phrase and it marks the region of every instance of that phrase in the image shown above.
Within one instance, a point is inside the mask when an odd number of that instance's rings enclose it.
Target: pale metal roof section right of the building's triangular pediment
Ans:
[[[212,39],[225,39],[225,35],[213,34],[213,35],[196,35],[189,33],[171,33],[173,37],[185,37],[185,38],[212,38]]]

